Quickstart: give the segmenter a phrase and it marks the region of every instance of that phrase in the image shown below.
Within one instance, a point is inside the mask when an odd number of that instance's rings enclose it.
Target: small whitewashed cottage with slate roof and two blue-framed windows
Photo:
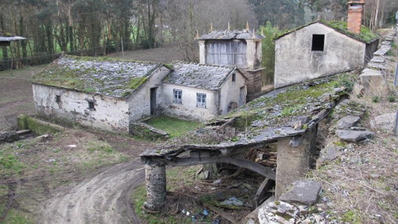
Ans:
[[[177,62],[163,81],[164,113],[208,120],[246,104],[246,77],[239,69]]]

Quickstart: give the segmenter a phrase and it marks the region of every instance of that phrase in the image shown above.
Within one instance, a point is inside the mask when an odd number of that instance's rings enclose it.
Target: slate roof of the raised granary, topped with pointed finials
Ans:
[[[213,30],[201,35],[198,40],[231,40],[231,39],[255,39],[262,40],[264,37],[254,34],[251,30]]]

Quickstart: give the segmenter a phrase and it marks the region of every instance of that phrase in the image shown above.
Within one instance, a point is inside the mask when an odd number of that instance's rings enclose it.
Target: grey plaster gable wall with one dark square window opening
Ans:
[[[312,35],[324,34],[324,51],[311,51]],[[275,88],[363,67],[366,44],[320,23],[276,41]]]

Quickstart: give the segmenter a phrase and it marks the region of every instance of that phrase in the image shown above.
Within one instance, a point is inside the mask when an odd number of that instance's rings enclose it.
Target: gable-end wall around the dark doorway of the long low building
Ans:
[[[152,74],[149,80],[146,81],[138,90],[131,94],[128,98],[130,121],[135,121],[143,116],[151,115],[151,99],[150,93],[151,88],[156,89],[156,105],[158,108],[157,113],[161,113],[163,108],[162,103],[162,81],[170,73],[170,70],[164,66],[160,67],[157,71]]]

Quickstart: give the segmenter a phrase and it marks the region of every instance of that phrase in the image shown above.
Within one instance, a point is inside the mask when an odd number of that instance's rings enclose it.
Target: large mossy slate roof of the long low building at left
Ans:
[[[61,56],[32,83],[125,98],[143,85],[161,63],[107,57]]]

